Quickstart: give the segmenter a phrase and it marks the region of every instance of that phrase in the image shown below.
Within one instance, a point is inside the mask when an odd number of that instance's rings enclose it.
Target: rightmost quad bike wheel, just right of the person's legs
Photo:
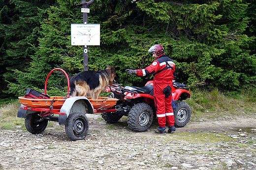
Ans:
[[[175,127],[183,127],[190,121],[191,109],[189,104],[184,101],[179,101],[176,104],[176,107],[173,109],[173,113]]]

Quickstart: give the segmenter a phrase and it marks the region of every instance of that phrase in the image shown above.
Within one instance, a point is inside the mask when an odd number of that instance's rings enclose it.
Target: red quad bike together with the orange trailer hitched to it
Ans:
[[[64,72],[67,78],[67,96],[49,97],[46,94],[47,81],[51,73],[59,70]],[[186,90],[187,86],[174,83],[172,88],[175,126],[183,127],[190,120],[190,106],[182,100],[191,96]],[[65,125],[67,137],[72,140],[84,139],[89,131],[89,120],[86,114],[101,113],[102,118],[110,123],[119,121],[123,116],[128,116],[128,125],[133,131],[146,131],[155,113],[153,81],[149,81],[144,87],[122,87],[113,84],[108,87],[112,92],[109,97],[71,97],[69,96],[69,78],[63,69],[53,69],[45,81],[44,94],[48,98],[19,97],[21,107],[17,117],[25,119],[25,127],[32,134],[38,134],[45,130],[48,121],[58,121]],[[31,93],[29,93],[31,95]]]

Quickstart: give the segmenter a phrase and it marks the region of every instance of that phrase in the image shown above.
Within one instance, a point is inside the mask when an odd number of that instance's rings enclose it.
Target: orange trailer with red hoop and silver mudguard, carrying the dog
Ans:
[[[51,73],[62,71],[67,78],[67,96],[54,96],[49,98],[18,97],[21,106],[17,117],[25,119],[25,127],[32,134],[45,130],[48,121],[58,121],[65,125],[67,137],[72,140],[84,139],[89,131],[89,121],[86,114],[112,112],[119,99],[111,97],[71,97],[69,96],[69,78],[67,73],[60,68],[53,69],[45,81],[44,95],[47,95],[47,81]]]

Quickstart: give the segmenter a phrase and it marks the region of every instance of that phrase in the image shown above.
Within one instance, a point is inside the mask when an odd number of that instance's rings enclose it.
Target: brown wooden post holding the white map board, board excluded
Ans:
[[[93,2],[94,0],[90,0],[89,2],[87,2],[86,0],[82,0],[82,3],[77,5],[82,5],[82,8],[88,8],[88,6],[90,6]],[[88,13],[83,12],[83,24],[88,24],[87,19],[88,19]],[[88,46],[85,45],[84,46],[84,71],[88,71],[88,50],[89,50]]]

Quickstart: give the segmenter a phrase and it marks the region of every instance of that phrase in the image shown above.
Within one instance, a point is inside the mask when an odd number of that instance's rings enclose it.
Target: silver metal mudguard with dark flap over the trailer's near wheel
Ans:
[[[65,100],[59,115],[59,124],[66,125],[66,119],[71,113],[94,114],[94,106],[87,97],[69,97]]]

